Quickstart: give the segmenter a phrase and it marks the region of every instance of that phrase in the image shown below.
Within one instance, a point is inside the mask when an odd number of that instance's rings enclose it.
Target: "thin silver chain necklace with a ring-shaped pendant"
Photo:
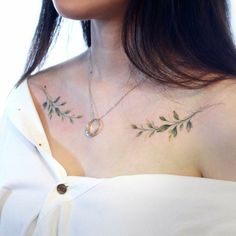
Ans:
[[[94,137],[97,134],[99,134],[103,129],[103,122],[102,119],[110,112],[112,111],[120,102],[124,99],[126,95],[128,95],[132,90],[137,88],[141,83],[143,83],[146,79],[144,79],[142,82],[136,84],[134,87],[132,87],[129,91],[127,91],[110,109],[108,109],[107,112],[105,112],[102,116],[95,118],[94,109],[93,109],[93,103],[92,103],[92,92],[91,92],[91,77],[93,75],[93,66],[91,62],[91,49],[89,48],[89,82],[88,82],[88,89],[89,89],[89,101],[90,101],[90,117],[92,119],[88,122],[88,124],[85,127],[85,135],[87,137]]]

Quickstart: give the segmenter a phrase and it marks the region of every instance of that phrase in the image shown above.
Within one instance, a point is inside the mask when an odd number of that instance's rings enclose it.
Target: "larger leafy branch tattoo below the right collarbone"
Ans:
[[[143,127],[143,125],[137,126],[135,124],[131,124],[131,128],[139,130],[139,132],[136,134],[136,137],[142,135],[144,132],[150,132],[148,137],[151,137],[155,132],[156,133],[164,132],[167,129],[169,129],[168,131],[169,131],[169,141],[170,141],[172,137],[175,138],[177,136],[178,128],[179,131],[182,131],[185,126],[187,132],[189,132],[193,128],[193,124],[191,121],[192,117],[195,116],[197,113],[202,112],[204,109],[214,105],[216,104],[201,107],[199,110],[193,112],[191,115],[187,116],[184,119],[180,119],[179,114],[175,110],[173,110],[172,115],[174,120],[172,121],[167,120],[164,116],[159,116],[160,120],[167,122],[166,124],[163,124],[160,127],[155,125],[153,121],[148,121],[146,124],[147,125],[146,128]]]

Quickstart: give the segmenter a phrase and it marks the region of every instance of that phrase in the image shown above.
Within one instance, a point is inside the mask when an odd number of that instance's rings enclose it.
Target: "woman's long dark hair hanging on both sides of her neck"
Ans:
[[[226,0],[130,0],[121,35],[125,53],[156,84],[197,89],[235,77],[236,47],[228,8]],[[44,62],[61,20],[52,1],[43,0],[16,87]],[[91,20],[81,20],[81,25],[90,47]],[[209,73],[215,76],[210,78]]]

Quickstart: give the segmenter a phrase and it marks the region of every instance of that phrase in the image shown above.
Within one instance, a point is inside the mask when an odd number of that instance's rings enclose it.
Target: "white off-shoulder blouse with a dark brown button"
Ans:
[[[57,192],[59,183],[68,186],[65,194]],[[236,182],[67,176],[52,157],[25,80],[1,120],[0,235],[235,236]]]

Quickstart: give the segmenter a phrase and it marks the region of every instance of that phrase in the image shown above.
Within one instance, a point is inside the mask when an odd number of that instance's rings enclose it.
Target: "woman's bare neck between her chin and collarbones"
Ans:
[[[122,86],[129,79],[130,61],[121,44],[120,22],[118,19],[91,20],[91,62],[93,80],[97,82],[115,83]],[[132,73],[129,81],[132,81],[133,76]]]

